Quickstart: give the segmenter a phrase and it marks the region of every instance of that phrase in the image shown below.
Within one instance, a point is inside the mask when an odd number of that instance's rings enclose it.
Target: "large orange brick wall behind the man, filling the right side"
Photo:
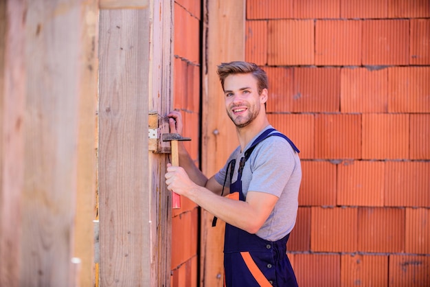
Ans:
[[[302,152],[306,286],[430,286],[430,1],[247,0],[246,54]]]

